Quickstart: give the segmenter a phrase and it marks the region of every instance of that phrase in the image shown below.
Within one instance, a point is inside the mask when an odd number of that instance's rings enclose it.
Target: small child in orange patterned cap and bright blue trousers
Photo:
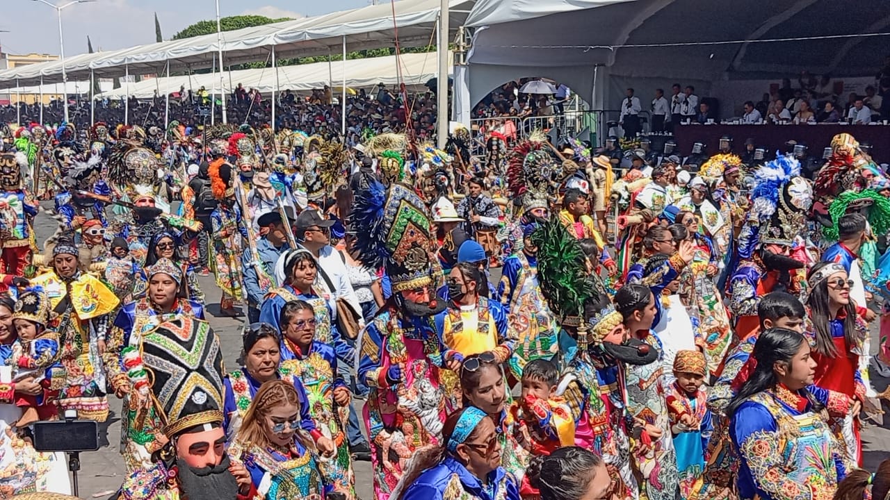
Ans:
[[[680,493],[688,498],[706,463],[705,451],[714,425],[708,410],[708,395],[701,388],[707,376],[707,362],[700,351],[678,351],[674,376],[667,394],[667,415],[674,436],[676,465],[680,473]]]

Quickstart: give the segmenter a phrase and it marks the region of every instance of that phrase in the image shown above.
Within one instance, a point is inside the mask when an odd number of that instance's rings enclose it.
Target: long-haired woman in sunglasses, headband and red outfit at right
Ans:
[[[867,384],[863,382],[862,357],[868,325],[857,312],[858,306],[850,298],[853,281],[844,266],[837,262],[819,262],[810,270],[806,299],[807,316],[815,336],[813,359],[816,373],[813,383],[829,391],[837,391],[855,399],[854,412],[836,419],[832,427],[843,440],[846,455],[862,464],[862,440],[859,423],[854,415],[865,400]]]

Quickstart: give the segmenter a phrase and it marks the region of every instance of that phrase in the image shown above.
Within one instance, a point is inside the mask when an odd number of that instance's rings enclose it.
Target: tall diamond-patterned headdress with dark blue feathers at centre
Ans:
[[[361,228],[362,238],[355,242],[359,260],[371,269],[384,267],[393,293],[433,284],[430,217],[414,190],[369,181],[355,198],[350,225]]]

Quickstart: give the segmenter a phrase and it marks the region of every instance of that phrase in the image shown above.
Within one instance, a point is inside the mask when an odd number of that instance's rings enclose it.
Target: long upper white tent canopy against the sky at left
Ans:
[[[452,31],[463,24],[473,0],[449,0]],[[395,15],[393,17],[393,6]],[[391,47],[398,27],[403,46],[435,43],[434,26],[439,17],[439,0],[400,0],[394,4],[368,5],[351,11],[333,12],[312,18],[289,20],[254,28],[223,32],[223,64],[266,60],[275,46],[278,59],[307,57],[347,50]],[[214,65],[219,46],[215,33],[146,44],[113,52],[78,54],[67,58],[69,79],[120,77],[134,74],[165,74],[170,71],[205,69]],[[61,81],[61,61],[30,65],[0,72],[2,85],[37,85]],[[19,83],[16,83],[16,79]]]

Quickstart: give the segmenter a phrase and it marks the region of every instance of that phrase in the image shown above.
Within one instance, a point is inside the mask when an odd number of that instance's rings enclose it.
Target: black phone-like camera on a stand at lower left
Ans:
[[[32,429],[36,451],[68,454],[74,496],[79,496],[77,471],[80,470],[80,452],[99,449],[99,423],[77,420],[77,410],[65,410],[65,420],[35,422]]]

